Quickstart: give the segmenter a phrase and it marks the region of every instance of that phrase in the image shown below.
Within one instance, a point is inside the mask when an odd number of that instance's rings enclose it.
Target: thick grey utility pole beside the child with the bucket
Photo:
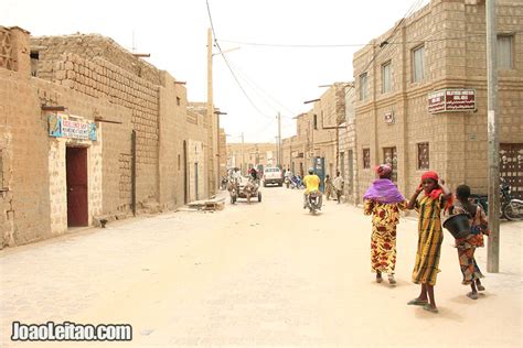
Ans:
[[[495,1],[487,0],[487,93],[488,93],[488,139],[489,139],[489,246],[487,248],[487,271],[498,273],[500,269],[500,139],[498,134],[498,72],[495,50]]]

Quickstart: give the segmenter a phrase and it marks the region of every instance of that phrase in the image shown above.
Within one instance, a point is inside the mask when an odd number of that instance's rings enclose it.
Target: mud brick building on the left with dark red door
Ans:
[[[207,197],[205,122],[108,37],[0,26],[0,248]]]

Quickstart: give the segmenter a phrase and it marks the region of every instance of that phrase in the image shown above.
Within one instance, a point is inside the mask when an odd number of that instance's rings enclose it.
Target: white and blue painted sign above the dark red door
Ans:
[[[96,141],[96,123],[70,120],[62,115],[49,116],[49,135]]]

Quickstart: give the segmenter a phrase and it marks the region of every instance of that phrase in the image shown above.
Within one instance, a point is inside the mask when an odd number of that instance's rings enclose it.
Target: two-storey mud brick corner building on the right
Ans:
[[[354,54],[360,193],[389,162],[407,195],[437,171],[487,192],[485,7],[433,0]],[[523,2],[497,1],[501,175],[523,195]]]

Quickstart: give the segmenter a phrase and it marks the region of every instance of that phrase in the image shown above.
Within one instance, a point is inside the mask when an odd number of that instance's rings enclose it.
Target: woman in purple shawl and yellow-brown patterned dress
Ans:
[[[376,273],[376,282],[383,281],[382,273],[388,275],[388,282],[396,284],[396,225],[399,222],[399,210],[405,210],[407,202],[391,181],[392,167],[387,164],[376,166],[380,176],[363,196],[363,211],[372,215],[371,267]]]

